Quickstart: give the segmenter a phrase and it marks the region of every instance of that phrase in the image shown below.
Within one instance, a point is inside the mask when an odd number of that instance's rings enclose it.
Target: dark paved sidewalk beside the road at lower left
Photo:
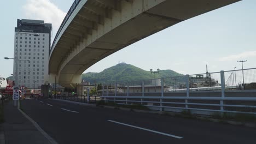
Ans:
[[[5,144],[51,143],[17,107],[13,106],[12,100],[4,105],[4,119],[5,123],[1,125],[4,129]]]

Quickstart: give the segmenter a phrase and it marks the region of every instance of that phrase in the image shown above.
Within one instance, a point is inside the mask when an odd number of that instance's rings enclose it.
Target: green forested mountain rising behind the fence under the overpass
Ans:
[[[173,70],[160,70],[158,74],[155,75],[156,79],[161,77],[173,77],[182,76],[182,74],[176,73]],[[142,80],[154,79],[154,74],[150,71],[143,70],[141,68],[135,67],[131,64],[119,63],[113,67],[104,69],[100,73],[86,73],[82,75],[82,79],[92,83],[127,83],[127,82],[141,82]]]

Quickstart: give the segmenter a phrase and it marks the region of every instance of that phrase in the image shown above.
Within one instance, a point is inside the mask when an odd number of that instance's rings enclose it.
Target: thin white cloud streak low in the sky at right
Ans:
[[[226,57],[220,57],[218,58],[219,61],[223,62],[223,61],[237,61],[240,58],[248,58],[248,57],[253,57],[256,56],[256,51],[246,51],[246,52],[242,52],[239,53],[237,55],[230,55],[230,56],[226,56]]]

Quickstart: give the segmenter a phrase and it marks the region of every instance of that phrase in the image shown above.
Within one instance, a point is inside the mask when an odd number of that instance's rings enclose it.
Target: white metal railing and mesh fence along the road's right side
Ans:
[[[101,97],[159,111],[256,114],[256,68],[103,84]]]

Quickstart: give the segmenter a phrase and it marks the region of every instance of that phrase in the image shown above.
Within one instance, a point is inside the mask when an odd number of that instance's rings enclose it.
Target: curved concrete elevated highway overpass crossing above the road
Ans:
[[[49,56],[49,82],[74,87],[104,57],[176,23],[239,0],[75,0]]]

